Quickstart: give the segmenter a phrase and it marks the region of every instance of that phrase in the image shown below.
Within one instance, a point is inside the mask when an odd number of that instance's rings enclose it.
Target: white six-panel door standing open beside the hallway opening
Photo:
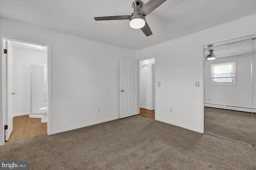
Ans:
[[[138,115],[138,61],[120,58],[120,118]]]

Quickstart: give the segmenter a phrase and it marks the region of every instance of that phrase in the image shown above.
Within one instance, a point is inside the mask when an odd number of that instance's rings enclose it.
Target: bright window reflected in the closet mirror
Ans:
[[[211,64],[212,85],[236,85],[236,61]]]

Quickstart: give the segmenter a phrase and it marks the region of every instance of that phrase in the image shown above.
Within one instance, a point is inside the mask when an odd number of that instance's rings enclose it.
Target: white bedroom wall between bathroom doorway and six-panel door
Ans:
[[[135,51],[5,18],[0,33],[52,44],[52,133],[119,118],[120,57]]]

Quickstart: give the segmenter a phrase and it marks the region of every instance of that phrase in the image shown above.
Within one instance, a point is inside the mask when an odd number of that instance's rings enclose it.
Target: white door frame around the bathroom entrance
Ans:
[[[4,60],[4,40],[12,40],[16,42],[24,42],[24,43],[30,43],[35,45],[42,45],[47,47],[47,85],[48,85],[48,123],[47,123],[47,134],[52,134],[52,55],[51,55],[51,43],[48,42],[41,42],[38,40],[30,40],[27,38],[21,38],[16,36],[10,36],[5,34],[0,34],[0,146],[4,145],[4,117],[5,117],[5,111],[7,106],[6,101],[6,70],[5,67],[3,67],[6,64],[6,61]]]

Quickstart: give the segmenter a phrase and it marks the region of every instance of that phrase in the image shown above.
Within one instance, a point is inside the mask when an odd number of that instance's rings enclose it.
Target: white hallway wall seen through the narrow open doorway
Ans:
[[[140,62],[140,108],[154,110],[152,108],[152,78],[152,63]]]

